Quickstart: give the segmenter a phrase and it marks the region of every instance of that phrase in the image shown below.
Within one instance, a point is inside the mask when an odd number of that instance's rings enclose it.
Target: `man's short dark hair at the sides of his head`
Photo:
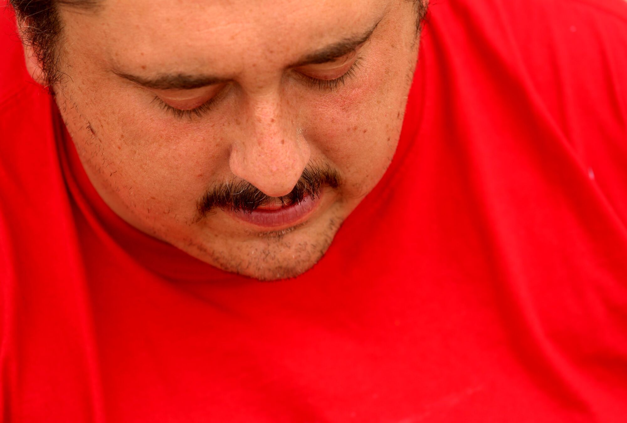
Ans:
[[[416,30],[420,31],[428,7],[427,2],[426,0],[406,1],[414,3],[417,16]],[[97,8],[100,2],[98,0],[9,0],[9,3],[15,9],[15,14],[21,23],[22,40],[33,47],[34,54],[46,75],[48,86],[54,85],[61,75],[56,49],[62,24],[57,7],[63,4],[90,10]]]

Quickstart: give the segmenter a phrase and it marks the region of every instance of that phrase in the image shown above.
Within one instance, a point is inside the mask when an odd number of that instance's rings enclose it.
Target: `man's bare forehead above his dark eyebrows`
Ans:
[[[110,60],[212,68],[256,58],[290,61],[362,33],[386,0],[102,0],[95,13],[62,11],[75,43]],[[70,34],[71,36],[71,34]],[[248,59],[248,60],[246,60]],[[226,69],[224,69],[226,70]]]

